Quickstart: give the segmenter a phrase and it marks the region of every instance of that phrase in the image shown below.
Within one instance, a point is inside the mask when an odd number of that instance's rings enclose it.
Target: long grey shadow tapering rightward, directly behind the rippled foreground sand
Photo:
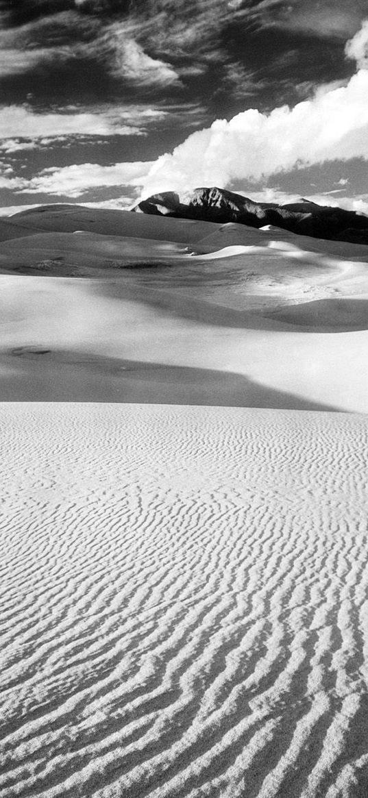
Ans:
[[[241,374],[46,347],[0,357],[0,401],[101,401],[337,411]]]

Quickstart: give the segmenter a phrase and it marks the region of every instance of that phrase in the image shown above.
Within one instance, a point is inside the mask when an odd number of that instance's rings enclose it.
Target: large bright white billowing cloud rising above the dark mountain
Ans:
[[[249,109],[216,120],[161,156],[143,183],[144,196],[165,189],[263,180],[276,172],[326,160],[368,159],[368,71],[346,86],[324,89],[310,101]]]

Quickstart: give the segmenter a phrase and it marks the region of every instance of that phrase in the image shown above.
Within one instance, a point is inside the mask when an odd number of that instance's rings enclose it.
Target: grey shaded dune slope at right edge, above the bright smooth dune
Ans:
[[[96,290],[96,289],[95,289]],[[270,332],[343,333],[368,330],[368,300],[327,298],[298,305],[260,308],[257,311],[237,310],[175,293],[175,284],[165,289],[132,286],[99,281],[98,293],[110,298],[144,302],[165,314],[187,321]],[[266,299],[267,297],[265,297]]]

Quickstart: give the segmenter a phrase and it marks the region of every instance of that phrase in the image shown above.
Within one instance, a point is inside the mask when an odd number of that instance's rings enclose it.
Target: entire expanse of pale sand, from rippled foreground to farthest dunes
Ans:
[[[0,794],[366,798],[368,247],[0,238]]]

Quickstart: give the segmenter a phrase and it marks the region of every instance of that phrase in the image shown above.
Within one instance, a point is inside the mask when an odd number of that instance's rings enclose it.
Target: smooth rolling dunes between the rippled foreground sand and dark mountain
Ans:
[[[28,233],[0,253],[0,401],[367,412],[368,247],[89,208],[10,221]]]

